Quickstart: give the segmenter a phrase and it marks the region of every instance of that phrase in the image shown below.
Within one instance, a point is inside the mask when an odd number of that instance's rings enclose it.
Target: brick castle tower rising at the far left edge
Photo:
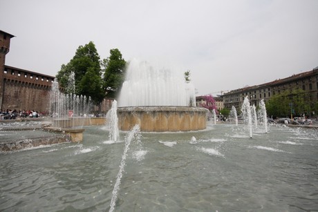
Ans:
[[[10,39],[12,37],[15,36],[0,30],[0,106],[2,105],[3,100],[4,64],[6,61],[6,54],[10,50]]]

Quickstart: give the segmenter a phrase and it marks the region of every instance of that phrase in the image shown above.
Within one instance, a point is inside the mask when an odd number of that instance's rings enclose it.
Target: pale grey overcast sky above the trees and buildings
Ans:
[[[263,84],[318,66],[318,0],[10,0],[6,65],[55,76],[93,41],[154,66],[191,70],[198,95]],[[159,67],[160,68],[160,67]]]

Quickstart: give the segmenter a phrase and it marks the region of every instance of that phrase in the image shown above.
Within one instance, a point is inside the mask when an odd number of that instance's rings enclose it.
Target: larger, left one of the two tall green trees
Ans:
[[[79,46],[75,56],[56,75],[60,88],[65,93],[73,93],[68,86],[71,73],[75,73],[75,94],[90,96],[95,104],[102,102],[104,91],[100,68],[100,56],[95,44],[90,41],[85,46]]]

